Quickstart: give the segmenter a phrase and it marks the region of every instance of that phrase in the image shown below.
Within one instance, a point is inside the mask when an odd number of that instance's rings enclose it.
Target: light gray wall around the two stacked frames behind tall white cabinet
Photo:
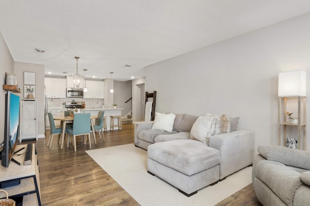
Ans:
[[[20,101],[24,101],[24,72],[35,73],[35,101],[38,108],[38,137],[45,137],[45,114],[44,114],[44,65],[15,61],[14,73],[20,87]]]

